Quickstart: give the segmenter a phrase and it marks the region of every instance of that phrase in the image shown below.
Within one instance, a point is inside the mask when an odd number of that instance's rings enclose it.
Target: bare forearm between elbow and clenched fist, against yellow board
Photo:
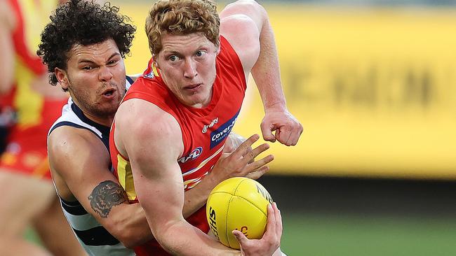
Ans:
[[[260,55],[251,70],[263,102],[264,111],[286,110],[286,101],[281,85],[279,57],[277,55],[274,31],[272,31],[266,10],[261,8]]]

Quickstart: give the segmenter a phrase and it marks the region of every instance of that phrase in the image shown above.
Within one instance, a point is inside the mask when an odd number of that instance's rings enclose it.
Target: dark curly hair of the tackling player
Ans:
[[[128,24],[130,17],[120,15],[119,8],[109,2],[72,0],[59,6],[51,22],[41,32],[36,54],[48,66],[49,83],[58,83],[55,68],[67,69],[69,51],[74,45],[93,45],[112,38],[122,57],[130,52],[136,28]]]

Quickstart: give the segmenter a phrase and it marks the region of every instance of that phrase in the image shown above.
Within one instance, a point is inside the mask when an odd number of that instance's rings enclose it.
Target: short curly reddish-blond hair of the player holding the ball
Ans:
[[[201,32],[216,46],[220,43],[220,17],[212,0],[159,0],[146,19],[149,50],[158,55],[163,34],[187,35]]]

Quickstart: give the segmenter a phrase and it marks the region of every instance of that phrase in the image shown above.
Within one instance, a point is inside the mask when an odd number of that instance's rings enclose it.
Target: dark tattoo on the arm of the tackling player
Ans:
[[[127,200],[125,190],[112,180],[105,180],[98,184],[88,196],[90,206],[101,218],[107,218],[113,206],[118,206]]]

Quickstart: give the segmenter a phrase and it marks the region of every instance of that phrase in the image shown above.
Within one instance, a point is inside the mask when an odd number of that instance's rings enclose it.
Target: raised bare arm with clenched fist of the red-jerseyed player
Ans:
[[[241,0],[224,8],[220,18],[220,34],[238,54],[246,77],[251,71],[260,91],[265,112],[261,124],[264,140],[296,145],[302,125],[286,107],[274,32],[266,10],[256,1]]]

